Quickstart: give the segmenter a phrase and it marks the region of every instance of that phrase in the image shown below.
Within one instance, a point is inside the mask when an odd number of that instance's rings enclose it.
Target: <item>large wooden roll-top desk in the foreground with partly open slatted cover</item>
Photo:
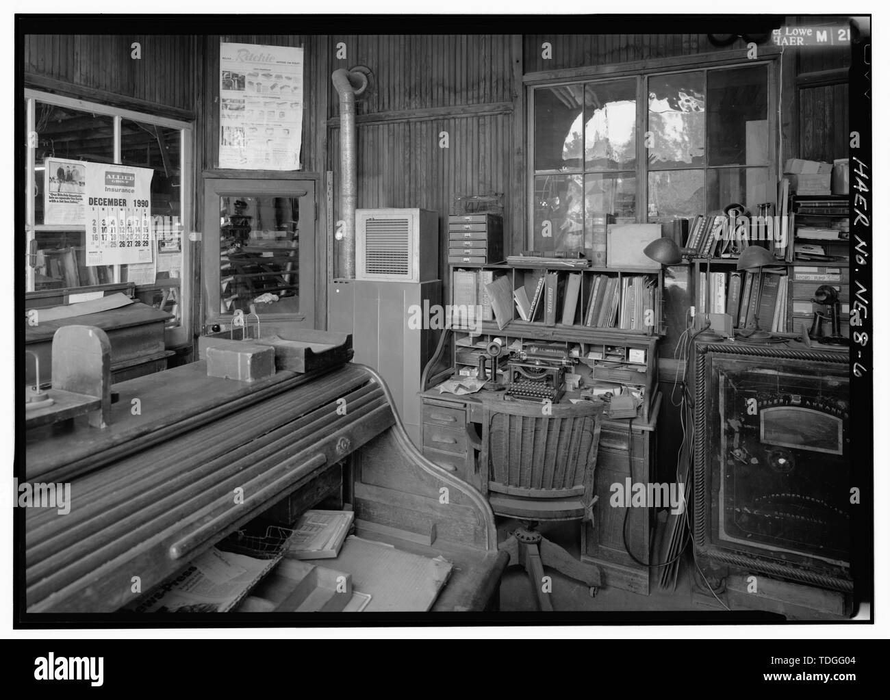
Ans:
[[[453,564],[433,610],[497,604],[507,557],[489,504],[417,451],[368,367],[237,382],[198,361],[113,389],[104,429],[28,430],[28,482],[70,484],[68,514],[21,509],[28,613],[117,611],[134,576],[149,591],[273,506],[332,497],[357,535]]]

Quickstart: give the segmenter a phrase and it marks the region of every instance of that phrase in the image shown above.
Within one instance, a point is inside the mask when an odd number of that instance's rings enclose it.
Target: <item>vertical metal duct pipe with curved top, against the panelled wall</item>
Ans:
[[[355,278],[355,206],[357,203],[357,149],[355,98],[368,87],[368,76],[339,68],[331,74],[340,95],[340,215],[344,221],[340,276]]]

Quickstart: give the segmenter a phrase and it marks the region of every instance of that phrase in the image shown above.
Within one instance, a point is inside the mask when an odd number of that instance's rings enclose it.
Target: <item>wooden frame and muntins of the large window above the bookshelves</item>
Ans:
[[[758,46],[757,58],[748,59],[748,52],[730,51],[717,53],[702,53],[698,56],[682,56],[675,59],[643,60],[634,63],[610,64],[602,67],[569,68],[555,71],[530,73],[523,76],[525,84],[526,102],[526,226],[527,234],[525,244],[534,247],[534,217],[535,217],[535,90],[563,86],[568,84],[603,83],[622,78],[635,77],[637,82],[637,109],[636,109],[636,205],[635,221],[637,223],[649,222],[649,173],[652,172],[679,172],[700,170],[704,173],[705,211],[707,211],[708,197],[708,171],[720,168],[738,168],[739,165],[708,165],[708,132],[705,132],[705,162],[696,168],[653,168],[649,167],[649,157],[645,148],[645,133],[649,119],[649,79],[651,76],[676,73],[703,72],[704,89],[707,99],[708,71],[726,68],[745,68],[752,64],[765,64],[767,68],[767,133],[768,156],[766,165],[767,182],[778,182],[782,148],[781,148],[781,51],[769,47]],[[706,104],[707,114],[707,104]],[[583,119],[582,119],[583,122]],[[582,186],[587,171],[584,166],[584,157],[581,158],[582,167],[579,173],[563,173],[566,175],[580,174]],[[744,166],[743,166],[744,167]],[[756,167],[756,166],[750,166]],[[592,171],[593,172],[593,171]],[[773,193],[775,204],[776,193]],[[585,212],[585,220],[587,213]],[[663,221],[663,219],[662,219]],[[658,222],[658,221],[655,221]]]

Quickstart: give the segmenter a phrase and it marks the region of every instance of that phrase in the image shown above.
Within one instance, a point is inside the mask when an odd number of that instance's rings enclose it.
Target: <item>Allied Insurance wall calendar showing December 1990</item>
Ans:
[[[85,163],[86,264],[154,261],[150,168]]]

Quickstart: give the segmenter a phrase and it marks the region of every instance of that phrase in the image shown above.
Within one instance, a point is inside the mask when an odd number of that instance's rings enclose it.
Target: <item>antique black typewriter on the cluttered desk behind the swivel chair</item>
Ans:
[[[566,368],[573,364],[565,346],[534,343],[507,361],[506,395],[531,401],[559,401],[565,393]]]

